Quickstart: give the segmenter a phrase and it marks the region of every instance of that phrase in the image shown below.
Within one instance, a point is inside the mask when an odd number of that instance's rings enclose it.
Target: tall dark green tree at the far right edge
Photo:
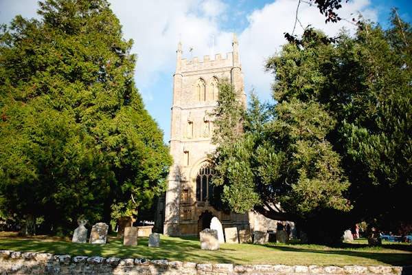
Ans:
[[[354,39],[307,30],[266,67],[276,76],[275,99],[319,102],[336,120],[327,137],[352,183],[351,222],[388,231],[411,223],[411,28],[397,15],[387,31],[361,18]]]

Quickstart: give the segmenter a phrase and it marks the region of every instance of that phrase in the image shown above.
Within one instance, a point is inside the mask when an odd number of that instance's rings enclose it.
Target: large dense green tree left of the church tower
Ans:
[[[133,81],[133,41],[105,0],[46,0],[0,34],[0,210],[71,228],[139,211],[171,158]],[[33,232],[30,232],[33,233]]]

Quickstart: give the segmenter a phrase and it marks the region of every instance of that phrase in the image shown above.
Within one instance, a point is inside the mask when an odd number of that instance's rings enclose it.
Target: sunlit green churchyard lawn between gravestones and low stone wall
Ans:
[[[48,252],[71,256],[143,257],[151,260],[195,263],[233,263],[233,265],[410,265],[412,245],[384,244],[369,248],[365,239],[343,243],[341,248],[305,245],[293,240],[289,245],[268,243],[220,244],[220,250],[201,250],[198,238],[179,238],[161,235],[159,248],[148,248],[148,237],[139,237],[137,246],[124,246],[123,239],[108,237],[106,244],[71,243],[71,239],[34,236],[19,238],[16,234],[0,233],[0,250]]]

